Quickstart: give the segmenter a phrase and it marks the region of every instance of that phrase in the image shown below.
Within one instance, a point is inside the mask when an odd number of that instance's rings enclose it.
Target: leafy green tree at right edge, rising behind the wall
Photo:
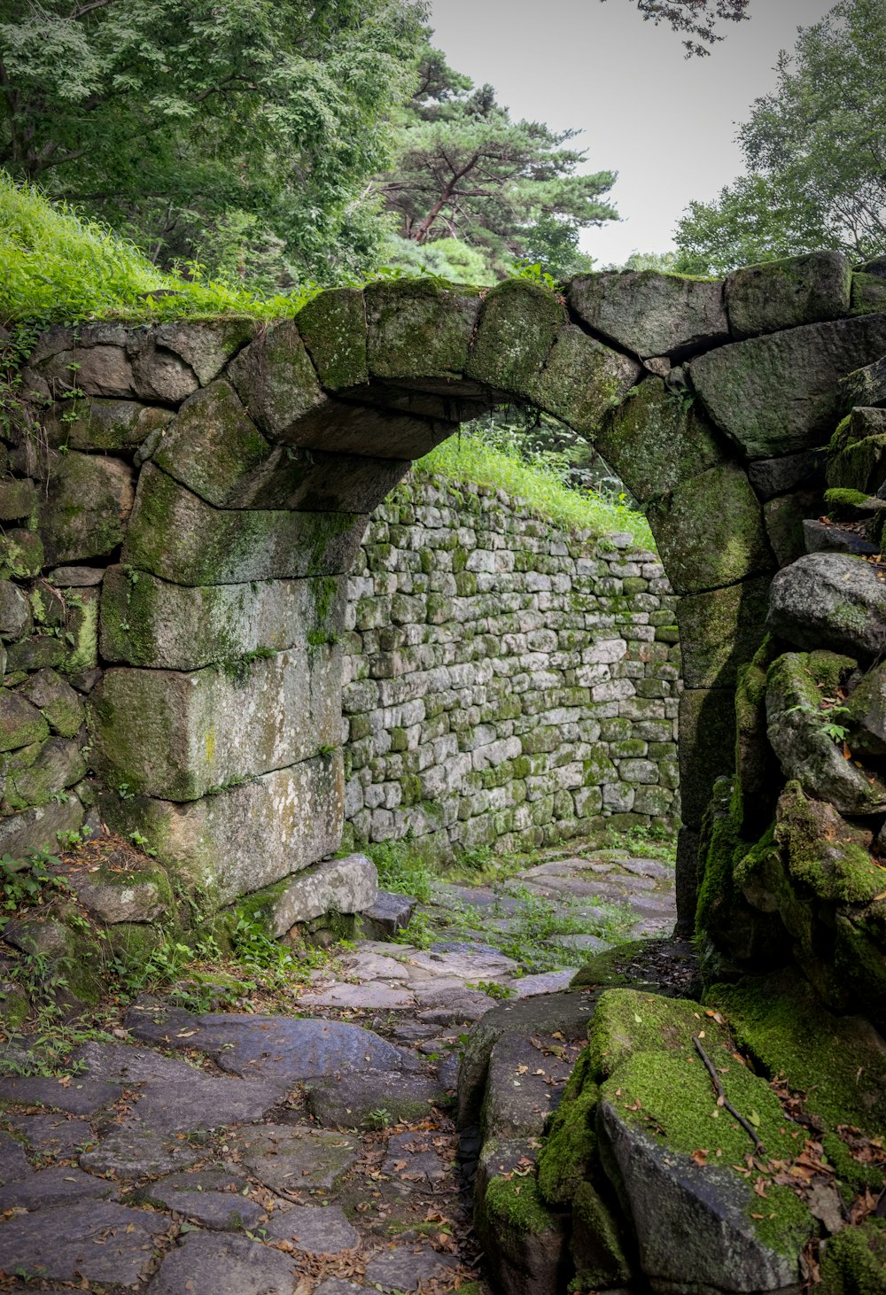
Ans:
[[[693,202],[675,240],[706,272],[816,249],[886,251],[886,6],[843,0],[782,51],[738,132],[747,175]]]

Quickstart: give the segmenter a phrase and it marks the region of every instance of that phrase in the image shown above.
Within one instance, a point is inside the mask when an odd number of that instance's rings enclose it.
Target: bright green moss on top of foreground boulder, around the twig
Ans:
[[[706,1052],[718,1068],[727,1097],[742,1111],[759,1120],[758,1133],[767,1155],[791,1159],[797,1143],[786,1128],[778,1099],[766,1083],[737,1062],[725,1042],[714,1044],[706,1037]],[[683,1052],[636,1053],[606,1080],[601,1101],[609,1102],[620,1119],[642,1128],[670,1149],[692,1155],[709,1151],[709,1163],[729,1167],[744,1166],[751,1151],[747,1133],[729,1114],[716,1105],[716,1094],[701,1059],[689,1049]],[[639,1105],[637,1105],[639,1103]],[[716,1155],[716,1151],[721,1155]],[[795,1254],[813,1234],[813,1220],[790,1188],[771,1185],[767,1190],[767,1217],[756,1220],[759,1198],[736,1175],[736,1195],[746,1198],[747,1221],[763,1244],[780,1254]]]

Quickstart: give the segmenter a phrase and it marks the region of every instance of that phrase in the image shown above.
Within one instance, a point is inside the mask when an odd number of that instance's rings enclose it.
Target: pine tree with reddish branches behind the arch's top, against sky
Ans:
[[[540,253],[545,268],[569,273],[582,255],[579,229],[618,219],[602,201],[615,172],[576,174],[585,154],[565,146],[576,133],[512,122],[491,85],[474,88],[427,51],[376,192],[399,236],[418,247],[461,240],[499,275]]]

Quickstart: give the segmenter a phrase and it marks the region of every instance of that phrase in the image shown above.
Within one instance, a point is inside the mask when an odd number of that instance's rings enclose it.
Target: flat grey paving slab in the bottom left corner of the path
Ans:
[[[168,1220],[110,1200],[82,1200],[0,1224],[0,1272],[135,1286]],[[211,1289],[211,1287],[210,1287]],[[223,1287],[219,1287],[223,1289]]]

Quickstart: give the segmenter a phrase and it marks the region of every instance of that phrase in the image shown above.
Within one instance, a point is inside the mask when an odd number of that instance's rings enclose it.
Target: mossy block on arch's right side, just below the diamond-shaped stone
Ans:
[[[677,593],[720,589],[775,566],[759,501],[737,464],[689,477],[646,515]]]

